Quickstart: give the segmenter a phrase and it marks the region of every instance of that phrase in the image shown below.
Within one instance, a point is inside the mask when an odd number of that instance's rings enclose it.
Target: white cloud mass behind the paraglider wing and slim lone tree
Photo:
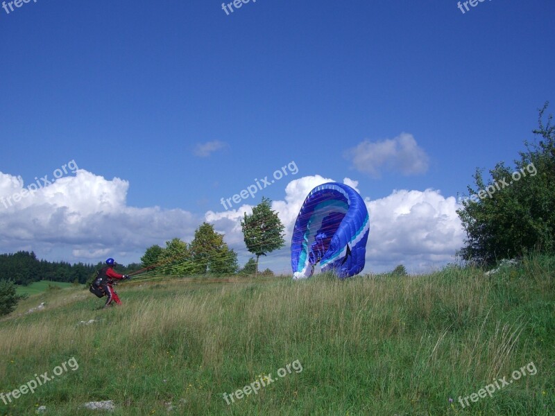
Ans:
[[[325,182],[333,180],[320,175],[292,180],[285,188],[284,200],[272,202],[272,209],[285,226],[286,247],[262,257],[262,268],[290,272],[289,243],[298,212],[308,193]],[[348,177],[343,183],[355,189],[358,185]],[[463,228],[456,215],[459,206],[454,197],[445,198],[432,189],[400,190],[385,198],[365,201],[370,212],[370,236],[364,272],[384,272],[400,263],[409,272],[426,272],[453,261],[453,255],[463,244]],[[223,232],[225,241],[242,256],[240,263],[252,255],[246,251],[241,232],[241,218],[245,212],[250,214],[252,207],[243,205],[231,211],[208,211],[205,215],[205,220]]]

